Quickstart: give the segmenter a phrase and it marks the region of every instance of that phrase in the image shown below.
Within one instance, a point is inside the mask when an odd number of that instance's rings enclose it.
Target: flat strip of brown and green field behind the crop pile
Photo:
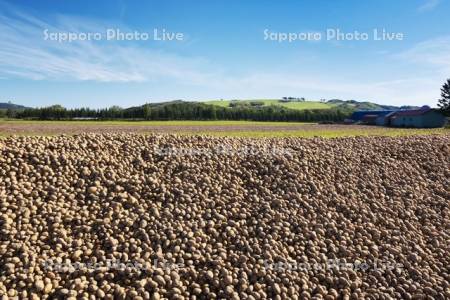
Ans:
[[[142,124],[142,125],[141,125]],[[362,125],[319,125],[262,122],[0,122],[0,136],[80,133],[203,133],[250,137],[338,137],[357,135],[414,135],[448,133],[445,129],[396,129]]]

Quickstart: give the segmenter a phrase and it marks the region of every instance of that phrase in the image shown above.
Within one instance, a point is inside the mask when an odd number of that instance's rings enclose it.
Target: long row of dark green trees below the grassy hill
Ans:
[[[282,106],[236,106],[225,108],[198,102],[174,101],[145,104],[122,109],[117,106],[105,109],[66,109],[55,105],[17,111],[15,118],[38,120],[70,119],[134,119],[134,120],[252,120],[252,121],[343,121],[351,114],[337,108],[293,110]]]

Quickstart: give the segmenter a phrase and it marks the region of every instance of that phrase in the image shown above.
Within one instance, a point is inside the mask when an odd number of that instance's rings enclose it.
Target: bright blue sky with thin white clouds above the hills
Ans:
[[[282,96],[435,106],[450,78],[450,1],[0,0],[0,102],[123,107]],[[58,42],[47,33],[149,33]],[[153,30],[182,33],[155,41]],[[327,40],[328,29],[368,40]],[[375,41],[373,30],[403,40]],[[265,40],[321,33],[319,41]]]

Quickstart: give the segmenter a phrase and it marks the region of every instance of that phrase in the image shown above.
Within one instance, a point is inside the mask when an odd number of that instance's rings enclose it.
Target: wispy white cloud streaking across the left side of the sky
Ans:
[[[58,42],[48,32],[101,32],[106,24],[58,16],[50,22],[0,3],[0,76],[33,80],[134,82],[161,78],[198,82],[204,61],[114,41]],[[123,31],[127,28],[121,27]],[[145,41],[144,41],[145,42]],[[149,41],[147,41],[149,42]]]

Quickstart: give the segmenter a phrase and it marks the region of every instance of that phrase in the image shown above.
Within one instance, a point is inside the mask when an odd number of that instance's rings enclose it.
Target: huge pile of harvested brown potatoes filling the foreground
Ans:
[[[0,294],[450,298],[450,136],[0,141]]]

